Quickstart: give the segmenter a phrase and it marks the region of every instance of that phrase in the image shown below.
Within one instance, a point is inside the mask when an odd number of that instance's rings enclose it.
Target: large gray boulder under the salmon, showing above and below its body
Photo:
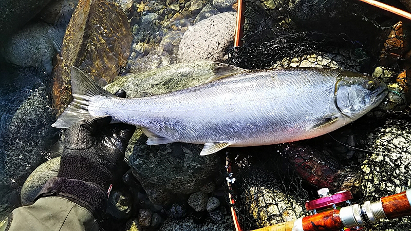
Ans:
[[[174,64],[126,75],[106,88],[110,92],[123,88],[129,98],[144,97],[202,84],[212,74],[212,62]],[[176,194],[198,191],[223,165],[218,153],[199,156],[202,145],[172,143],[148,146],[146,136],[141,136],[141,133],[137,130],[130,141],[125,161],[154,204],[169,204]]]

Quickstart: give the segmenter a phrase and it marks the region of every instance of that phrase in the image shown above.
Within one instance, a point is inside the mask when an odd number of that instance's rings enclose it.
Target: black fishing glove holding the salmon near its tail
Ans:
[[[38,198],[64,197],[90,210],[96,219],[102,219],[115,167],[124,159],[135,131],[135,126],[110,125],[110,121],[110,117],[95,118],[65,131],[58,175],[47,181]]]

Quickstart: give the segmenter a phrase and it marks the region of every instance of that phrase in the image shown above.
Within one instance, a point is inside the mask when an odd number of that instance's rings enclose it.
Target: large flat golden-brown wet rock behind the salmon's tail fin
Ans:
[[[108,20],[109,19],[109,20]],[[81,0],[67,26],[54,69],[54,108],[61,113],[71,102],[70,66],[105,86],[118,79],[132,42],[127,16],[115,3]]]

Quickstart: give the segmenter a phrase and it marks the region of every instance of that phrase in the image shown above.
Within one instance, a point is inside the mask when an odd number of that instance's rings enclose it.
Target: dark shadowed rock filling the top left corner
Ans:
[[[50,0],[0,1],[0,41],[20,29],[49,2]]]

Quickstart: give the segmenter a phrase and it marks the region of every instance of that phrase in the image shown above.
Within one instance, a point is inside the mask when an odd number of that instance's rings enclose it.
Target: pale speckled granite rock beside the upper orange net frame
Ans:
[[[232,46],[236,12],[225,12],[196,23],[181,38],[178,56],[181,62],[209,60],[222,62]]]

